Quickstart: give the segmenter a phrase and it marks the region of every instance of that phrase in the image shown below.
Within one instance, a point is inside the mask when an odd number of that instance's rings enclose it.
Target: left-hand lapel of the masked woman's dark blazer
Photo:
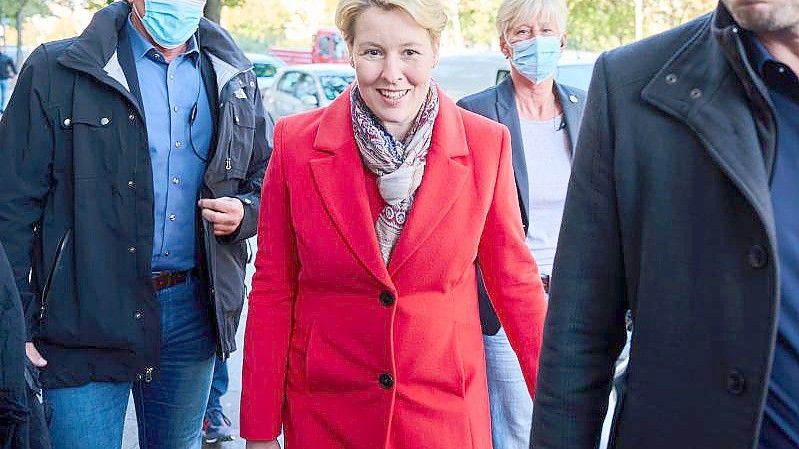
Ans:
[[[519,191],[524,222],[530,216],[530,186],[527,180],[527,162],[524,157],[519,111],[516,110],[516,96],[513,92],[513,81],[505,78],[497,86],[497,121],[508,127],[513,152],[513,174],[516,177],[516,189]]]

